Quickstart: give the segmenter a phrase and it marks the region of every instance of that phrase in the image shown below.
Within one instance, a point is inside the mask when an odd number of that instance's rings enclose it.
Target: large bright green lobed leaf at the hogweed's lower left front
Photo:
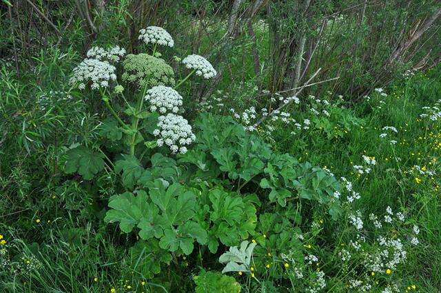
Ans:
[[[119,222],[123,232],[130,233],[136,226],[141,239],[161,239],[159,246],[185,254],[193,251],[194,239],[207,243],[207,232],[191,221],[195,215],[196,197],[182,185],[156,179],[149,183],[149,195],[143,190],[115,195],[110,198],[104,221]]]

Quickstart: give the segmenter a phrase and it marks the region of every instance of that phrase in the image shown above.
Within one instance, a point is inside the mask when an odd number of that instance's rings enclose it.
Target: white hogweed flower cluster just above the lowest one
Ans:
[[[182,105],[181,94],[165,85],[156,85],[147,90],[144,99],[150,102],[150,111],[158,110],[161,114],[165,114],[167,110],[176,113]]]

